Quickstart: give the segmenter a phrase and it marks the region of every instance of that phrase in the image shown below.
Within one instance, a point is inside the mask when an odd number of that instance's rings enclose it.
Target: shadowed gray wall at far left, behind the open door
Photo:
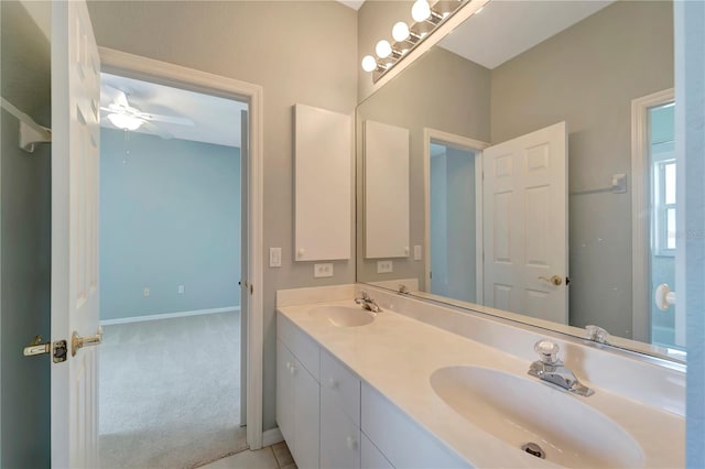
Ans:
[[[48,127],[48,41],[17,1],[0,2],[0,94]],[[0,128],[0,467],[43,468],[51,358],[22,349],[35,335],[51,337],[51,146],[20,150],[19,121],[4,109]]]

